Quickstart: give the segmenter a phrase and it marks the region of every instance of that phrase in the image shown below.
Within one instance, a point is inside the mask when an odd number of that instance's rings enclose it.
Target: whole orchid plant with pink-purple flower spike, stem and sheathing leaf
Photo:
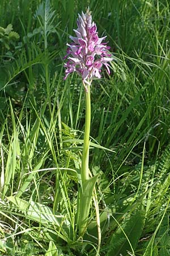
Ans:
[[[82,15],[78,14],[77,26],[78,28],[74,30],[76,36],[70,36],[72,43],[67,43],[67,55],[64,57],[64,59],[67,59],[67,62],[64,64],[66,68],[64,79],[67,79],[70,73],[77,72],[82,77],[86,98],[86,121],[78,207],[79,235],[83,236],[88,225],[90,205],[97,179],[97,176],[90,177],[88,170],[91,125],[90,88],[94,77],[100,79],[103,66],[107,69],[108,74],[110,74],[109,62],[112,61],[112,57],[108,52],[110,47],[107,46],[107,43],[103,42],[106,36],[102,38],[98,36],[97,27],[92,22],[89,8],[86,14],[83,11]]]

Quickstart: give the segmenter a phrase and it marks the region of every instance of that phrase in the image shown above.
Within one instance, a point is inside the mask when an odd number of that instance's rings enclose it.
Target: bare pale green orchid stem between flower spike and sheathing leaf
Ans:
[[[84,82],[83,82],[84,85]],[[83,155],[82,155],[82,186],[84,182],[89,179],[88,174],[88,161],[89,161],[89,137],[90,137],[90,124],[91,124],[91,102],[90,102],[90,85],[84,85],[85,98],[86,98],[86,121],[84,130],[84,144],[83,144]]]

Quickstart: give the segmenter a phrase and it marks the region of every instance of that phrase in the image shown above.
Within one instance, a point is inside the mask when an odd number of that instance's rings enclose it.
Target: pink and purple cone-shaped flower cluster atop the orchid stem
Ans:
[[[73,43],[67,44],[67,59],[64,67],[66,68],[66,76],[72,72],[78,72],[84,82],[88,84],[87,80],[93,77],[100,78],[101,67],[105,65],[110,74],[108,62],[112,60],[108,53],[107,43],[102,43],[106,38],[99,38],[97,27],[92,22],[92,16],[87,9],[86,14],[82,11],[82,16],[78,15],[78,28],[74,30],[76,37],[70,36]]]

